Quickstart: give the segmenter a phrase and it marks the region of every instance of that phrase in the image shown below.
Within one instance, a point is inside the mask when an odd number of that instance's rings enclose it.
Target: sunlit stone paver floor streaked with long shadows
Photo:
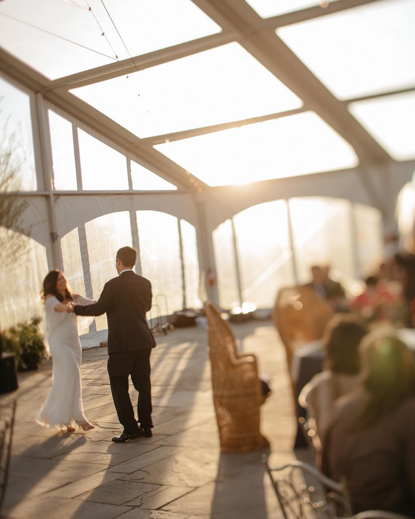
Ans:
[[[285,354],[269,321],[233,325],[241,349],[272,377],[262,406],[271,462],[294,459],[295,418]],[[6,499],[7,519],[276,519],[261,455],[220,452],[203,327],[159,335],[151,355],[153,438],[115,444],[122,430],[110,394],[107,351],[84,350],[85,414],[95,429],[62,433],[34,421],[51,384],[51,365],[20,376]],[[130,386],[133,403],[136,392]]]

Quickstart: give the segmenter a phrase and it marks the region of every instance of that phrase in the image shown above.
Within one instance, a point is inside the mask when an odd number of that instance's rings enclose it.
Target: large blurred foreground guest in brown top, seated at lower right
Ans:
[[[323,445],[323,472],[345,481],[355,512],[415,517],[415,362],[394,331],[361,345],[362,387],[340,399]]]

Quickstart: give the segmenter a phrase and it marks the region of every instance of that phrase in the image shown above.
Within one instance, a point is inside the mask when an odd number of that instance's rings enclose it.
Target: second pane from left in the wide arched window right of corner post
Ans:
[[[278,290],[294,285],[285,200],[261,203],[233,216],[242,298],[272,308]]]

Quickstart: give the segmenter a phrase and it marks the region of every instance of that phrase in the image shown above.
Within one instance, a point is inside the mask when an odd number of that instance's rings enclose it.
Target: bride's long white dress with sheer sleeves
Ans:
[[[82,404],[82,350],[77,316],[54,311],[59,303],[54,296],[45,301],[45,339],[52,355],[52,387],[36,421],[47,427],[62,428],[72,426],[74,422],[87,424],[88,420]],[[76,299],[77,305],[92,303],[85,297]]]

